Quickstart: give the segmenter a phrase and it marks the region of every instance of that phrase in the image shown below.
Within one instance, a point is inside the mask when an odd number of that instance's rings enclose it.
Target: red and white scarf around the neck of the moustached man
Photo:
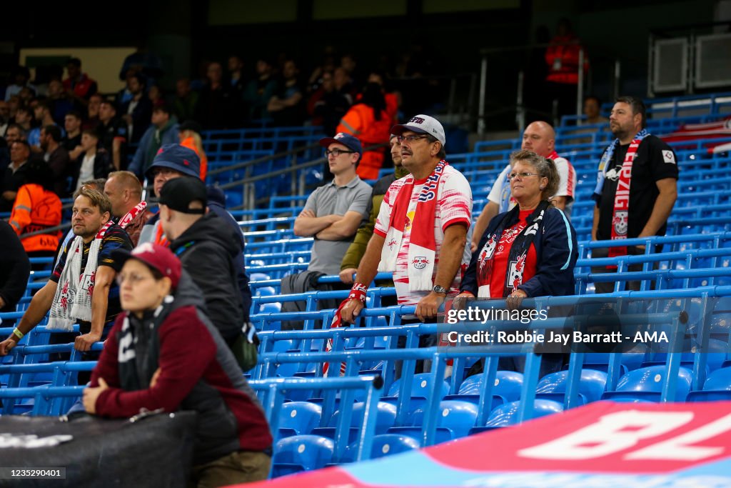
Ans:
[[[419,193],[419,198],[412,203],[414,176],[406,177],[406,182],[398,190],[391,219],[388,223],[386,242],[395,242],[384,246],[378,271],[395,271],[396,258],[401,250],[406,228],[406,215],[412,214],[411,238],[409,239],[409,291],[429,291],[433,287],[434,260],[436,258],[436,239],[434,237],[434,216],[436,202],[439,200],[440,182],[448,162],[439,161],[433,173],[426,179]]]

